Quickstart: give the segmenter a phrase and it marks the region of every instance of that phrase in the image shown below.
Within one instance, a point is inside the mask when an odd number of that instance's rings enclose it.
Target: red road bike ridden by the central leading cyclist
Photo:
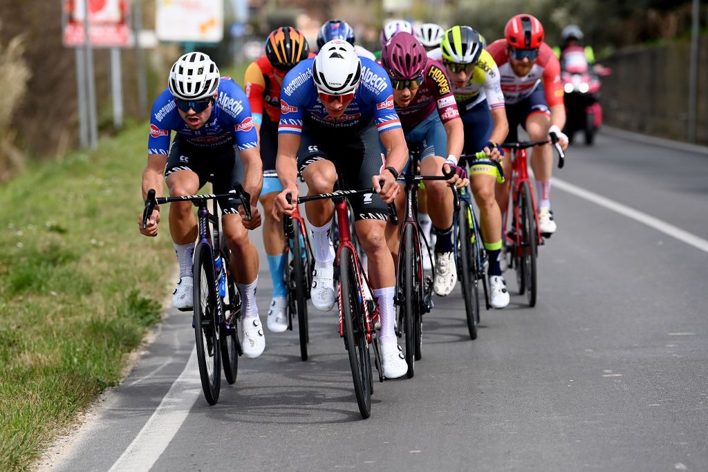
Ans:
[[[341,181],[341,178],[338,179]],[[344,347],[349,357],[349,365],[354,383],[354,393],[362,418],[371,415],[371,394],[374,390],[369,346],[374,346],[375,366],[379,372],[379,381],[383,381],[380,350],[374,324],[378,310],[373,301],[365,297],[366,287],[370,287],[361,259],[352,242],[349,229],[349,211],[347,197],[362,193],[376,193],[373,188],[361,190],[336,190],[319,195],[307,195],[297,199],[297,205],[314,200],[332,200],[335,218],[339,226],[336,264],[339,272],[338,309],[339,336],[344,339]],[[395,208],[389,205],[392,219],[397,224]],[[287,219],[285,220],[287,224]],[[292,224],[292,220],[291,220]],[[373,297],[370,299],[372,300]]]

